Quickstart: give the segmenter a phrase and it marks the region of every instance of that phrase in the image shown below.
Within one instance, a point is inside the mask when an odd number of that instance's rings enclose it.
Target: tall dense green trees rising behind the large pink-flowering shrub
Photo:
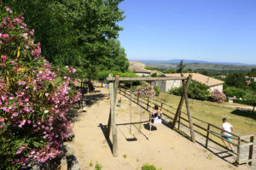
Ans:
[[[58,66],[73,65],[80,77],[96,77],[98,71],[127,71],[125,49],[117,40],[125,19],[123,0],[2,0],[41,42],[42,54]]]

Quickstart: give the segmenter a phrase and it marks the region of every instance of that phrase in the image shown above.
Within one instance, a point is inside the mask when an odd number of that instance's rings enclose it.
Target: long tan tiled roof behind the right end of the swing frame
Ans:
[[[199,74],[199,73],[183,73],[183,76],[189,77],[189,74],[192,75],[192,80],[194,80],[196,82],[204,83],[209,87],[224,83],[223,81],[220,81],[220,80],[212,78],[212,77],[207,77],[207,76]],[[181,77],[180,73],[165,74],[164,76],[165,77]]]

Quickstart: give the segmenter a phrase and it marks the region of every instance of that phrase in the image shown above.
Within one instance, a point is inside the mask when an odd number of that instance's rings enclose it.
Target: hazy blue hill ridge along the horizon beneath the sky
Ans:
[[[170,59],[170,60],[150,60],[150,59],[144,59],[144,60],[139,60],[143,63],[172,63],[172,64],[177,64],[180,63],[181,59]],[[201,63],[201,64],[213,64],[213,65],[242,65],[242,66],[256,66],[256,65],[247,65],[244,63],[232,63],[232,62],[209,62],[209,61],[204,61],[204,60],[196,60],[196,59],[183,59],[183,63]]]

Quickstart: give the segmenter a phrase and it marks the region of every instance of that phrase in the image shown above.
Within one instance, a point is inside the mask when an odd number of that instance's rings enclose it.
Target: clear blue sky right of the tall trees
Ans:
[[[127,58],[256,64],[256,0],[125,0]]]

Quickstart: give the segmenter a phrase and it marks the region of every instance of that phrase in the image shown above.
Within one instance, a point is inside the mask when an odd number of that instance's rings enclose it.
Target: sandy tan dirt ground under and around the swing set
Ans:
[[[87,94],[85,98],[90,99],[86,103],[87,112],[80,111],[74,122],[72,145],[82,170],[94,169],[96,161],[102,164],[102,170],[136,170],[144,163],[162,170],[238,169],[163,124],[156,125],[151,132],[148,122],[141,124],[141,132],[139,124],[131,125],[130,133],[130,101],[119,94],[117,99],[122,99],[121,108],[116,107],[119,156],[113,157],[111,141],[104,136],[110,108],[108,94],[108,88],[100,87],[96,87],[96,93]],[[139,122],[140,108],[134,103],[131,105],[131,122]],[[148,112],[143,111],[142,121],[148,121]]]

